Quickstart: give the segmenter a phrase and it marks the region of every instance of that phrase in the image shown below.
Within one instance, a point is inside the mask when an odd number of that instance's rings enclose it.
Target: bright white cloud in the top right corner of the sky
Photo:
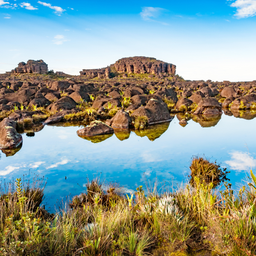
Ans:
[[[236,0],[230,6],[237,8],[235,17],[238,19],[256,15],[256,0]]]

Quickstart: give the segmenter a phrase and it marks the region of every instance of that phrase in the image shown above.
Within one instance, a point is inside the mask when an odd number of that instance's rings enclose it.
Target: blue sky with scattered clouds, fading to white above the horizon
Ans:
[[[0,0],[0,73],[43,59],[78,75],[154,57],[185,79],[256,80],[256,0]]]

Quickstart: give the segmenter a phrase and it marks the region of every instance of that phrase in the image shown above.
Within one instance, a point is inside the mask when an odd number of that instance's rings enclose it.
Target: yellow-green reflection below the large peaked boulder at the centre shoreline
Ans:
[[[165,131],[167,131],[170,122],[165,122],[162,124],[156,125],[149,125],[146,130],[138,131],[135,130],[134,132],[139,137],[147,136],[149,140],[154,141],[155,139],[159,138]]]

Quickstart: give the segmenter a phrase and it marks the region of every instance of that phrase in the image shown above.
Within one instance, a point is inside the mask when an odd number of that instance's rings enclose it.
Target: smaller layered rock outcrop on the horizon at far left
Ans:
[[[18,67],[12,70],[13,73],[33,73],[33,74],[47,74],[48,65],[43,60],[28,60],[20,62]]]

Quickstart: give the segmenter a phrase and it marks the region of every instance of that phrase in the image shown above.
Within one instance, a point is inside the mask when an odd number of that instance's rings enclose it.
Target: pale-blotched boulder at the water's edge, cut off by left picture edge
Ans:
[[[16,122],[9,118],[0,122],[0,149],[12,149],[22,143],[21,134],[16,131]]]

